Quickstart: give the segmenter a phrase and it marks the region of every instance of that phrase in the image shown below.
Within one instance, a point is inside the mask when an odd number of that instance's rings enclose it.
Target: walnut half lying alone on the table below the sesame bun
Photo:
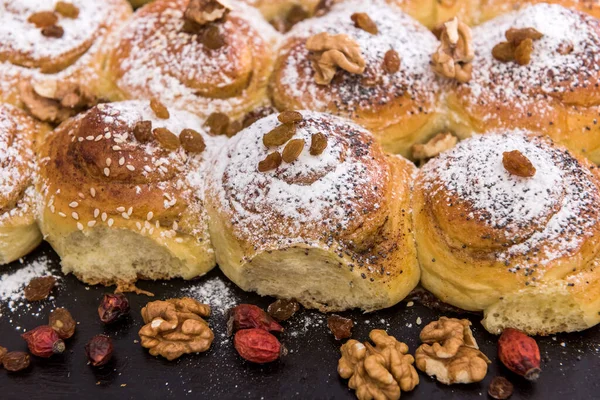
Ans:
[[[142,309],[146,324],[139,332],[142,347],[169,361],[206,351],[214,339],[213,331],[202,319],[209,315],[208,305],[189,297],[148,303]]]

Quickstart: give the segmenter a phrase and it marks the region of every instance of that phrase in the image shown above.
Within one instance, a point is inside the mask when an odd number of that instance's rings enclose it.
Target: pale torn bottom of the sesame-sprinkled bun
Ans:
[[[176,242],[160,234],[141,235],[128,229],[98,227],[86,231],[63,230],[60,218],[49,212],[40,221],[44,239],[61,257],[62,271],[73,273],[90,284],[110,286],[133,283],[138,279],[192,279],[215,267],[215,256],[208,240],[187,237]]]

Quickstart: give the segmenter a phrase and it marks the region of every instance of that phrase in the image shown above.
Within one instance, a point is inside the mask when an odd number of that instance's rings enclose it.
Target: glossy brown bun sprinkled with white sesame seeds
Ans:
[[[100,104],[42,145],[39,212],[65,273],[88,284],[190,279],[215,266],[204,168],[224,139],[160,102]]]

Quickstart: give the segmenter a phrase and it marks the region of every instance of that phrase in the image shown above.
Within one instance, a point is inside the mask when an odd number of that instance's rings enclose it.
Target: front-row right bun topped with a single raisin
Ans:
[[[600,179],[583,157],[525,131],[476,135],[415,183],[422,285],[483,310],[492,333],[600,322]]]

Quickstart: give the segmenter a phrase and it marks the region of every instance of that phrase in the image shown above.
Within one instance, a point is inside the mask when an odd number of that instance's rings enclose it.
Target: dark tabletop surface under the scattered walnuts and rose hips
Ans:
[[[39,257],[52,260],[59,272],[58,259],[47,244],[28,256],[25,264]],[[21,268],[13,263],[2,273]],[[156,294],[156,299],[180,297],[182,289],[202,284],[206,279],[226,278],[215,269],[193,282],[142,282],[139,286]],[[266,307],[273,299],[245,293],[227,282],[239,303]],[[65,354],[51,359],[32,357],[32,367],[25,373],[0,371],[0,399],[353,399],[347,382],[336,368],[340,343],[329,333],[326,317],[303,310],[286,321],[281,341],[290,353],[283,360],[257,366],[243,361],[226,337],[226,318],[219,310],[209,322],[215,332],[212,348],[199,355],[187,355],[174,362],[155,358],[135,343],[142,326],[140,310],[149,301],[146,296],[129,294],[131,316],[115,326],[104,326],[98,319],[97,306],[106,288],[89,287],[72,276],[62,279],[55,299],[36,305],[33,310],[10,312],[0,304],[0,345],[10,350],[26,350],[15,327],[27,329],[45,324],[53,307],[68,308],[79,322],[77,333],[67,342]],[[37,314],[37,315],[36,315]],[[421,328],[440,313],[420,304],[408,307],[403,302],[373,314],[344,313],[356,326],[353,337],[366,340],[368,332],[383,328],[406,342],[411,353],[419,344]],[[448,316],[458,316],[447,314]],[[421,325],[417,325],[417,318]],[[530,383],[507,371],[496,357],[496,337],[488,334],[476,315],[464,315],[473,321],[477,341],[492,359],[486,379],[478,384],[447,387],[420,374],[421,383],[403,399],[485,399],[488,384],[496,375],[509,378],[515,385],[513,399],[598,399],[600,398],[600,329],[582,333],[540,338],[543,372],[538,382]],[[115,357],[107,366],[94,369],[87,365],[85,343],[95,334],[105,333],[114,339]]]

